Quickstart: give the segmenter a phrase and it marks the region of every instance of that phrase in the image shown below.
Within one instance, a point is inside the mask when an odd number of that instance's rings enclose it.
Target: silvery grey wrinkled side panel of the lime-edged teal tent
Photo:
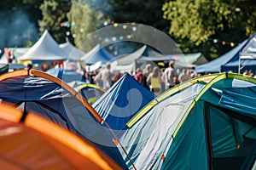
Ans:
[[[203,85],[195,84],[182,94],[166,99],[161,105],[155,105],[139,122],[125,131],[119,140],[137,169],[158,169],[161,154],[168,146],[166,141],[172,139],[177,123],[202,88]],[[129,161],[125,161],[131,167]]]

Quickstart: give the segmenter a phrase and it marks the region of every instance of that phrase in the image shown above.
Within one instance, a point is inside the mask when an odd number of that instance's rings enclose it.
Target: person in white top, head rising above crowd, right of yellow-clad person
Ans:
[[[173,60],[169,62],[169,67],[166,68],[162,80],[166,82],[166,90],[172,88],[177,82],[177,72],[174,67],[175,63]]]

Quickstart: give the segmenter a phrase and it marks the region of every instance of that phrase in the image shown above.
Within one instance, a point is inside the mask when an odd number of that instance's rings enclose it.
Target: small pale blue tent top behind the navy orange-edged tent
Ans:
[[[85,82],[84,77],[73,70],[61,69],[61,68],[51,68],[46,73],[50,74],[51,76],[58,77],[64,82]]]

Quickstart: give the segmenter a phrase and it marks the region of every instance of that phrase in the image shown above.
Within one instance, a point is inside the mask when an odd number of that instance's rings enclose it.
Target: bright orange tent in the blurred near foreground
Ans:
[[[42,116],[0,105],[3,169],[122,169],[90,142]]]

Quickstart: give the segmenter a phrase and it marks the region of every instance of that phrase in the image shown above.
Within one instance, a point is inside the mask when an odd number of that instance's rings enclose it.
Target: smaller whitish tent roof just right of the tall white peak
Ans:
[[[68,59],[80,60],[84,56],[84,52],[73,46],[69,41],[61,43],[59,47],[67,54]]]

